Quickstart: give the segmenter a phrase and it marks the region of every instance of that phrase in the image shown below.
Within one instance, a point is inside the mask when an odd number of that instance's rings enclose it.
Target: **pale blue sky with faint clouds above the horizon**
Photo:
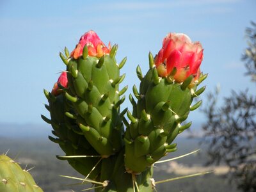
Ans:
[[[44,124],[40,114],[59,72],[65,70],[58,53],[74,49],[84,32],[93,29],[108,44],[118,44],[116,58],[127,56],[123,86],[139,83],[148,52],[156,54],[168,32],[186,33],[204,47],[202,71],[209,73],[207,92],[221,85],[221,96],[255,84],[244,77],[241,54],[244,29],[256,21],[256,1],[0,1],[0,122]],[[204,102],[204,97],[202,97]],[[128,99],[124,106],[130,106]],[[202,121],[194,111],[189,120]]]

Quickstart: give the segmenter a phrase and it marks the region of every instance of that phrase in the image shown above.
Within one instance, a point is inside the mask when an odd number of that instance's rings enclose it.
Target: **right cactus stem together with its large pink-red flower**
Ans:
[[[150,69],[145,77],[141,78],[140,67],[137,68],[140,92],[133,87],[138,102],[130,95],[133,112],[127,113],[131,124],[125,132],[128,172],[143,172],[168,152],[177,150],[172,141],[191,125],[180,124],[188,117],[193,97],[199,95],[196,87],[200,84],[197,79],[202,51],[201,45],[191,43],[188,36],[170,33],[156,58],[149,54]]]

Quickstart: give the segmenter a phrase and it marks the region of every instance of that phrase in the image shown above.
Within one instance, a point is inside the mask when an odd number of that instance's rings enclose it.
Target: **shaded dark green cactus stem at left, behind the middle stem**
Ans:
[[[79,128],[76,119],[71,118],[71,113],[74,113],[70,108],[70,101],[66,99],[65,93],[54,96],[51,93],[44,91],[48,99],[49,106],[47,108],[51,114],[51,120],[42,115],[45,122],[52,125],[53,134],[56,138],[49,136],[49,139],[54,143],[58,143],[61,149],[65,152],[65,156],[91,156],[68,158],[57,156],[58,159],[67,160],[68,163],[77,170],[77,172],[88,175],[91,179],[95,179],[100,173],[100,166],[95,167],[100,156],[94,148],[88,143],[83,136],[83,131]],[[50,96],[51,95],[51,96]],[[50,99],[54,98],[54,99]],[[67,115],[68,114],[68,115]],[[91,170],[93,169],[93,172]]]

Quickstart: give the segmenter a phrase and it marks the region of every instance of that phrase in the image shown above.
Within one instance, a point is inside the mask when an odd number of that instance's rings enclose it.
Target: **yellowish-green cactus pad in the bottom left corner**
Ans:
[[[0,155],[0,191],[4,192],[42,192],[35,180],[26,170],[10,157]]]

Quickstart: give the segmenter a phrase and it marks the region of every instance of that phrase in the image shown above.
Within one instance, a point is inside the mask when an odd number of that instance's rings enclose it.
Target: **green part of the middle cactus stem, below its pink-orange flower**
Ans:
[[[118,92],[118,84],[125,77],[119,75],[119,68],[126,58],[117,65],[116,51],[115,45],[109,55],[100,58],[84,53],[77,60],[69,60],[67,65],[69,89],[66,97],[76,110],[77,123],[84,137],[102,157],[115,154],[124,145],[124,125],[119,113],[125,97],[119,97],[127,87]]]

